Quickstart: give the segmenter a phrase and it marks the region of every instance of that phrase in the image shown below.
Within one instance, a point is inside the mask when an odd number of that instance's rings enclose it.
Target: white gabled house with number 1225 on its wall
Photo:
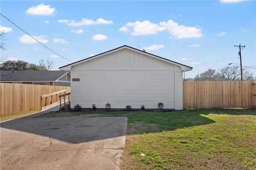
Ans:
[[[182,109],[183,72],[192,67],[124,45],[60,67],[71,73],[71,106]]]

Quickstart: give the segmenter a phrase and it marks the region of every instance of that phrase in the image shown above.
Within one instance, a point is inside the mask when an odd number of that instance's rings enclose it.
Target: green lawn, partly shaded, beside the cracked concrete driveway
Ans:
[[[60,111],[39,117],[64,114],[128,117],[121,170],[256,169],[256,110]]]

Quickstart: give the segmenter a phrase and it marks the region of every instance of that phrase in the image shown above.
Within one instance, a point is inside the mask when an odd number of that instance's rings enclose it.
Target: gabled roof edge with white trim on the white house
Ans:
[[[91,59],[95,59],[95,58],[101,57],[101,56],[103,56],[103,55],[108,55],[108,54],[110,54],[110,53],[114,53],[114,52],[119,51],[119,50],[122,50],[122,49],[130,49],[130,50],[136,51],[136,52],[138,52],[138,53],[142,53],[142,54],[151,56],[151,57],[153,57],[153,58],[160,59],[160,60],[162,60],[162,61],[166,61],[166,62],[168,62],[168,63],[181,66],[181,68],[182,68],[183,71],[192,70],[192,67],[190,67],[190,66],[186,66],[186,65],[184,65],[184,64],[180,64],[180,63],[177,63],[177,62],[175,62],[175,61],[171,61],[171,60],[169,60],[169,59],[165,59],[165,58],[163,58],[163,57],[159,57],[159,56],[157,56],[157,55],[154,55],[154,54],[151,54],[151,53],[147,53],[146,51],[141,51],[141,50],[139,50],[139,49],[135,49],[135,48],[133,48],[133,47],[129,47],[129,46],[127,46],[127,45],[123,45],[123,46],[118,47],[118,48],[116,48],[116,49],[112,49],[112,50],[110,50],[110,51],[106,51],[106,52],[104,52],[104,53],[100,53],[100,54],[98,54],[98,55],[94,55],[93,57],[89,57],[89,58],[87,58],[87,59],[83,59],[83,60],[77,61],[77,62],[75,62],[75,63],[62,66],[62,67],[60,67],[59,69],[60,69],[60,70],[65,70],[65,71],[70,71],[70,70],[71,70],[71,67],[74,66],[74,65],[77,65],[77,64],[80,64],[80,63],[84,63],[84,62],[86,62],[86,61],[90,61]]]

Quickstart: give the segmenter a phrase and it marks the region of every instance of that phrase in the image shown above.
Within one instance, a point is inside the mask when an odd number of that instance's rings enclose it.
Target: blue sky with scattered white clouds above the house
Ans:
[[[228,63],[256,76],[256,1],[0,1],[0,29],[7,32],[1,57],[54,70],[122,45],[193,67],[186,78]],[[56,55],[56,53],[58,55]],[[65,59],[64,59],[65,58]],[[67,60],[66,60],[67,59]],[[251,67],[252,68],[252,67]]]

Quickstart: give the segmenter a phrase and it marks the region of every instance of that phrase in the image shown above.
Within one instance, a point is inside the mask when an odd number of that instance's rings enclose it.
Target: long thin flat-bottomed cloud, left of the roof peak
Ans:
[[[112,20],[107,21],[107,20],[104,20],[103,18],[99,18],[96,21],[88,20],[87,18],[83,18],[81,21],[78,21],[78,22],[76,22],[75,20],[72,20],[70,23],[68,23],[68,25],[78,27],[78,26],[82,26],[82,25],[110,24],[110,23],[113,23],[113,21]]]

